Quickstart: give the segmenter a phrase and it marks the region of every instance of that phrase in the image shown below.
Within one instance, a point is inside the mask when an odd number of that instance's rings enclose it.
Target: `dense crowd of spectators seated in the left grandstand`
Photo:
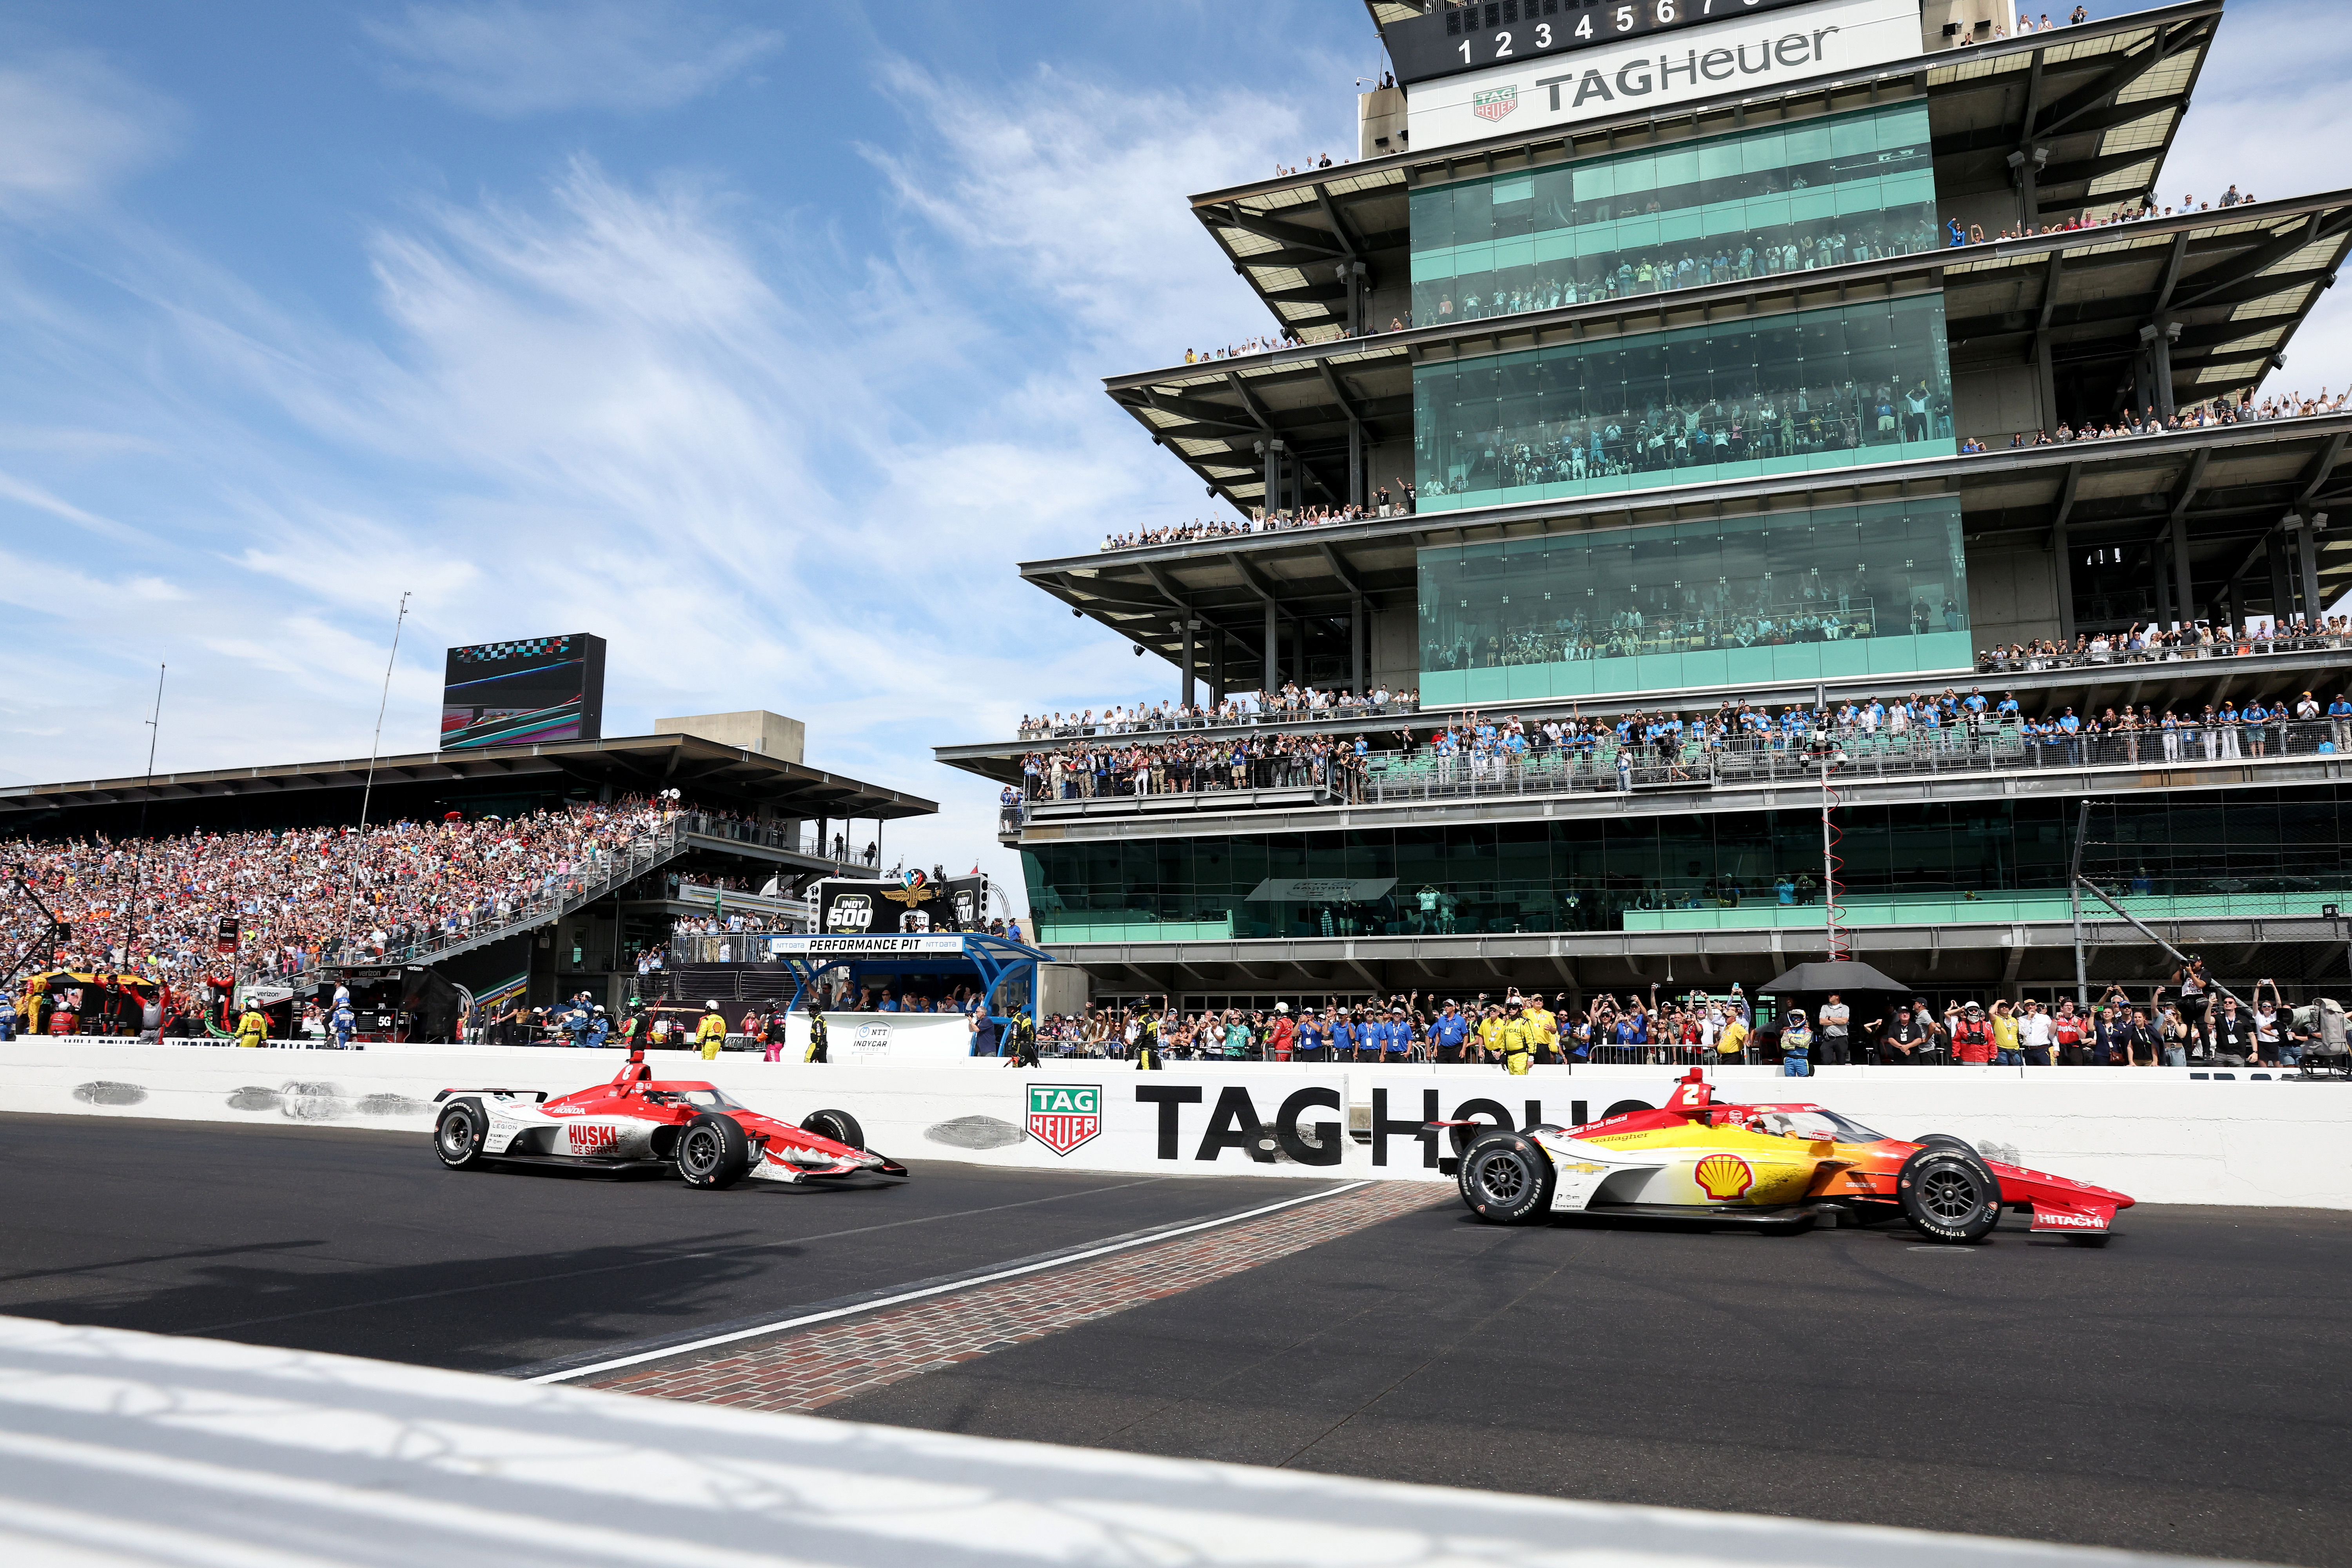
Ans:
[[[191,985],[235,969],[296,976],[332,961],[402,954],[416,943],[515,919],[534,900],[609,875],[675,806],[623,799],[527,816],[397,820],[358,827],[191,832],[153,839],[0,844],[59,922],[64,969]],[[223,919],[242,950],[216,954]],[[0,950],[45,931],[33,900],[0,903]]]

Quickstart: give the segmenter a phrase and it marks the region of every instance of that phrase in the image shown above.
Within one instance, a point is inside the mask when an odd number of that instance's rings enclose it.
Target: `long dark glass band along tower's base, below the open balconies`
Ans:
[[[1846,924],[2065,919],[2074,811],[2070,799],[1849,806]],[[2100,802],[2089,842],[2084,870],[2145,919],[2209,912],[2216,896],[2241,914],[2352,903],[2340,785]],[[1823,919],[1818,811],[1023,844],[1021,863],[1044,943]]]

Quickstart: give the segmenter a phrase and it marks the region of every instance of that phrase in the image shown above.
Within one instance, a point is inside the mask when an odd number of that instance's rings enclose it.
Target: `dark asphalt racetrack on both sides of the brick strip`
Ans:
[[[901,1150],[891,1150],[901,1154]],[[0,1117],[0,1312],[477,1371],[981,1269],[1308,1182],[988,1171],[701,1194],[419,1135]],[[1334,1474],[2352,1563],[2352,1215],[2112,1246],[1456,1204],[826,1415]]]

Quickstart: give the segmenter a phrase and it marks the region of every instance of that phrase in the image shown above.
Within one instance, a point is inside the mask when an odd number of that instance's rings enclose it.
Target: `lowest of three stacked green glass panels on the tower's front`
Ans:
[[[1421,701],[1962,668],[1959,498],[1421,550]]]

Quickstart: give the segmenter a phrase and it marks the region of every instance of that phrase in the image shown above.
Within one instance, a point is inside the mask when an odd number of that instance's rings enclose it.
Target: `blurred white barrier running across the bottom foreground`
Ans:
[[[1007,1443],[33,1319],[0,1319],[0,1556],[28,1568],[2192,1561]]]

